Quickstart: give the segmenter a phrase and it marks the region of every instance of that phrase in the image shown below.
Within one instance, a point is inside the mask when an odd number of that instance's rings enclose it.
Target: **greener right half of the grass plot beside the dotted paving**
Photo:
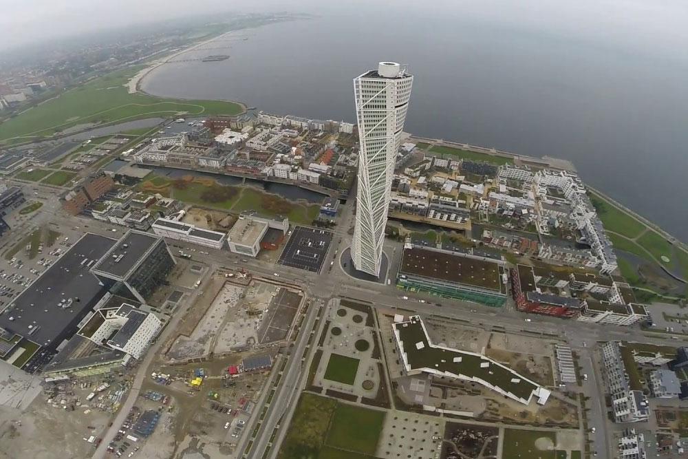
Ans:
[[[334,411],[327,445],[374,455],[384,422],[383,411],[340,403]]]

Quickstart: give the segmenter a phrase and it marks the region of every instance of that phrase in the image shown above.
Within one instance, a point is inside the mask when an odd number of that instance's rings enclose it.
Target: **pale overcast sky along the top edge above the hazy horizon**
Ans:
[[[374,5],[372,7],[371,5]],[[0,49],[124,25],[230,12],[372,14],[389,8],[688,55],[685,0],[0,0]],[[433,11],[429,11],[429,10]]]

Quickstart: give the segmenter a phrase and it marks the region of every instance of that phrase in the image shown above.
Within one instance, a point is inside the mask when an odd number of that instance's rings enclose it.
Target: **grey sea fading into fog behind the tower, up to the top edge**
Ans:
[[[416,80],[405,131],[566,158],[583,180],[688,241],[685,5],[491,9],[512,3],[370,15],[339,6],[237,32],[248,40],[184,56],[228,60],[164,65],[142,89],[354,122],[352,78],[378,61],[406,63]]]

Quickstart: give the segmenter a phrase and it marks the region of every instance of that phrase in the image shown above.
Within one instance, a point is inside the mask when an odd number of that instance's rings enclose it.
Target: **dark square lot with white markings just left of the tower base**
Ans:
[[[297,226],[289,238],[279,264],[319,273],[332,242],[332,232]]]

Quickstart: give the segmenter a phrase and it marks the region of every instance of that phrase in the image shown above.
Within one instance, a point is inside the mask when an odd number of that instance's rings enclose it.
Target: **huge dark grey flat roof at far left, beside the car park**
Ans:
[[[114,243],[109,237],[85,234],[10,303],[14,308],[0,314],[0,327],[41,346],[61,337],[70,326],[76,328],[76,323],[94,306],[94,300],[105,294],[105,288],[89,273],[87,264],[97,261]],[[59,306],[63,299],[72,299],[71,306]]]

